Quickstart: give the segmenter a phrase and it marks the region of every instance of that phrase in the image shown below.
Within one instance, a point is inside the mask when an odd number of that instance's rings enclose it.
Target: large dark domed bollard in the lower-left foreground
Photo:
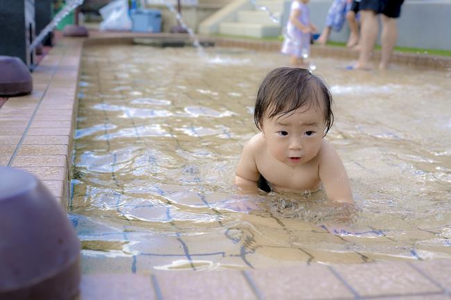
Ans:
[[[0,167],[0,300],[78,294],[80,241],[66,212],[33,175]]]

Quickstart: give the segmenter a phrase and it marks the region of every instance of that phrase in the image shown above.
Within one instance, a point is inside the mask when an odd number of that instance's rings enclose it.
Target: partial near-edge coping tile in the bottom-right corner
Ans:
[[[451,259],[438,259],[412,263],[416,269],[451,291]]]

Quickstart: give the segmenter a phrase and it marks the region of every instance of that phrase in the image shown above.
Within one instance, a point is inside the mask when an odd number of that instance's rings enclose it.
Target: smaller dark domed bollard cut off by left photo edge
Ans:
[[[31,73],[19,58],[0,56],[0,70],[0,97],[20,96],[33,91]]]

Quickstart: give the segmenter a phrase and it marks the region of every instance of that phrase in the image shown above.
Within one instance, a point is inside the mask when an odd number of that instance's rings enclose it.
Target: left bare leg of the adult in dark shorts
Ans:
[[[360,30],[360,53],[355,69],[371,69],[371,53],[376,44],[379,24],[377,13],[373,10],[360,10],[361,30]]]

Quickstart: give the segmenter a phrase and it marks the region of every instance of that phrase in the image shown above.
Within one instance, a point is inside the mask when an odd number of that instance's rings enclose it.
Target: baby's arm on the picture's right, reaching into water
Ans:
[[[353,204],[348,175],[337,151],[323,139],[320,153],[319,177],[327,197],[334,202]]]

